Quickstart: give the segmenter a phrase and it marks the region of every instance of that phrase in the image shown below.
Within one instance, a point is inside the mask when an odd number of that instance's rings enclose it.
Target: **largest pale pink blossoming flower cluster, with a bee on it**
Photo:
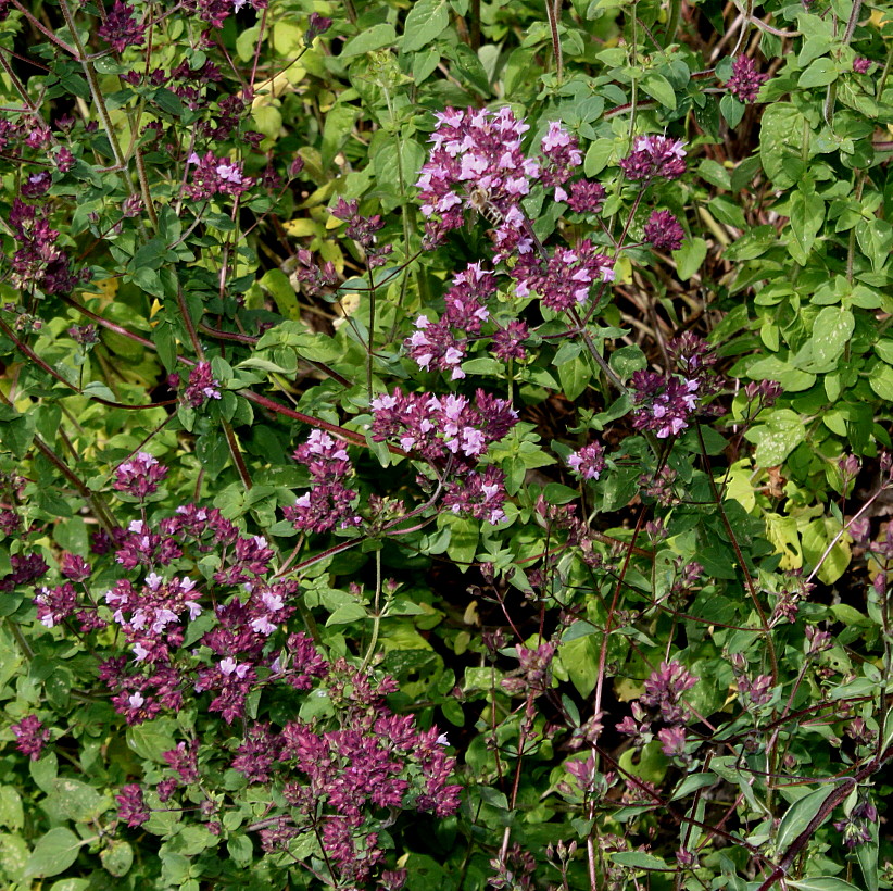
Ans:
[[[507,240],[519,251],[530,250],[530,239],[517,233],[525,219],[519,202],[540,175],[539,164],[520,147],[528,125],[508,108],[446,109],[435,116],[433,149],[416,183],[422,213],[429,218],[428,243],[441,241],[463,224],[466,210],[475,210],[494,221],[498,243]]]

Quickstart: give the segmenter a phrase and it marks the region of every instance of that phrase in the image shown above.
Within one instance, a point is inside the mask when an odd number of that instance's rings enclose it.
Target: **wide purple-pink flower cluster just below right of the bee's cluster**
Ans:
[[[598,253],[592,242],[583,239],[573,250],[555,248],[546,260],[534,253],[524,254],[511,275],[517,281],[518,297],[536,292],[542,298],[543,305],[563,312],[586,303],[596,283],[612,281],[614,261]]]

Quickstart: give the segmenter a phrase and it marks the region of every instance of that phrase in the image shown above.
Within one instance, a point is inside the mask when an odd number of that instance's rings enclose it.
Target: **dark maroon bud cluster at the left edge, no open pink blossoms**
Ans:
[[[71,268],[68,255],[55,246],[59,233],[50,228],[46,210],[12,202],[9,225],[21,244],[12,255],[12,284],[16,288],[39,288],[48,294],[67,293],[79,281]]]

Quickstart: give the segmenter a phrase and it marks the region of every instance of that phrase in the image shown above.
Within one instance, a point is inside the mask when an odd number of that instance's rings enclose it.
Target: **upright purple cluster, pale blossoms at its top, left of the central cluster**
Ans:
[[[353,474],[353,465],[343,443],[322,430],[314,430],[298,447],[294,460],[310,470],[311,489],[294,506],[284,510],[294,528],[306,532],[327,532],[336,526],[356,526],[361,518],[351,510],[356,492],[343,480]]]

